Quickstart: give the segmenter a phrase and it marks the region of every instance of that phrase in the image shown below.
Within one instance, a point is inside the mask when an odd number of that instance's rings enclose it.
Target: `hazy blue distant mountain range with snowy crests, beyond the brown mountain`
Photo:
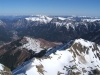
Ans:
[[[0,28],[1,43],[16,40],[23,36],[43,38],[53,42],[68,42],[71,39],[81,38],[83,35],[98,31],[100,19],[86,16],[22,16],[13,20],[1,18]]]

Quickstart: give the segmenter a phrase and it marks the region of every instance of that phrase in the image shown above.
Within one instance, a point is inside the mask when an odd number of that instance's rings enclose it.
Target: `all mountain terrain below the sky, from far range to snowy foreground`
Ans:
[[[10,75],[98,75],[99,33],[97,17],[0,16],[0,63]]]

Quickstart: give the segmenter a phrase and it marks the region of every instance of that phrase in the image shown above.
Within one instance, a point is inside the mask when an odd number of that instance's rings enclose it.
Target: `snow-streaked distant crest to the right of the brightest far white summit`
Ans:
[[[75,30],[76,27],[80,25],[84,25],[88,28],[89,24],[86,22],[95,22],[100,21],[97,17],[86,17],[86,16],[71,16],[71,17],[58,17],[59,20],[51,21],[51,23],[55,23],[56,26],[65,26],[67,29],[73,28]],[[53,19],[52,19],[53,20]]]

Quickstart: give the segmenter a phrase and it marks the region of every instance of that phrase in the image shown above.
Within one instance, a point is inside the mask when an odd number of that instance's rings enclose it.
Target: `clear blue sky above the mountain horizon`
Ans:
[[[100,16],[100,0],[0,0],[0,15]]]

